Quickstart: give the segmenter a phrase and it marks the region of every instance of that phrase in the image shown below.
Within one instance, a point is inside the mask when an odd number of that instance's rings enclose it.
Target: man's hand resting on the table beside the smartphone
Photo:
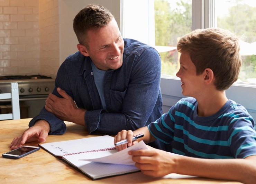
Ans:
[[[10,148],[11,150],[14,150],[26,142],[39,141],[40,143],[43,143],[46,141],[49,131],[49,124],[44,120],[39,120],[34,126],[31,126],[29,129],[25,130],[21,136],[14,138],[10,144]]]

